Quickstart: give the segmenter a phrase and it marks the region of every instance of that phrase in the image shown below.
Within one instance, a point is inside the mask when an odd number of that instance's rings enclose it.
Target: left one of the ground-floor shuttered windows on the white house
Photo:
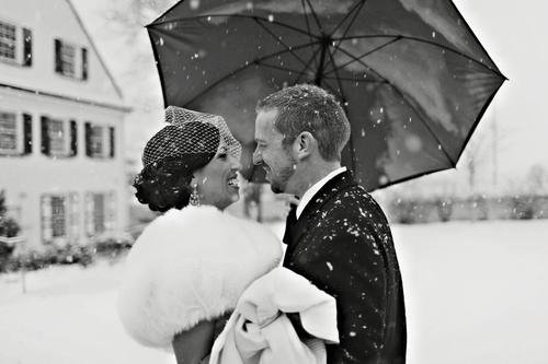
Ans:
[[[77,193],[43,195],[41,215],[44,243],[66,244],[78,240]]]

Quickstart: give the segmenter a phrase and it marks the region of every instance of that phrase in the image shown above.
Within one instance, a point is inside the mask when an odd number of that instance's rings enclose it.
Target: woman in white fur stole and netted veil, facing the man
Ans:
[[[126,260],[126,331],[172,350],[179,364],[324,362],[323,343],[338,342],[334,300],[276,268],[282,247],[267,228],[224,212],[239,199],[240,143],[220,116],[170,106],[165,121],[134,180],[139,202],[161,214]],[[285,313],[300,315],[306,338]]]

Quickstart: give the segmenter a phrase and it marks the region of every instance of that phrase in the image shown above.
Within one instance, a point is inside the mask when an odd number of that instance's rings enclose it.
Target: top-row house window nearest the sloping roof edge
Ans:
[[[88,49],[55,39],[55,71],[72,79],[88,79]]]

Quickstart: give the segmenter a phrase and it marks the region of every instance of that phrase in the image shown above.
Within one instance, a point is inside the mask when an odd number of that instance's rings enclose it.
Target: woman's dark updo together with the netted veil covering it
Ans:
[[[169,106],[165,122],[147,142],[144,168],[133,183],[139,202],[160,212],[189,204],[193,173],[213,160],[221,143],[228,154],[241,154],[241,144],[220,116]]]

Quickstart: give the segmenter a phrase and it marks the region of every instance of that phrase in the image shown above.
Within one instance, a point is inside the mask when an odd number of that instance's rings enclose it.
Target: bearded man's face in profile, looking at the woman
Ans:
[[[276,109],[261,110],[256,115],[253,163],[262,164],[273,192],[292,193],[290,179],[295,174],[296,161],[289,148],[283,145],[284,136],[274,125],[276,117]]]

